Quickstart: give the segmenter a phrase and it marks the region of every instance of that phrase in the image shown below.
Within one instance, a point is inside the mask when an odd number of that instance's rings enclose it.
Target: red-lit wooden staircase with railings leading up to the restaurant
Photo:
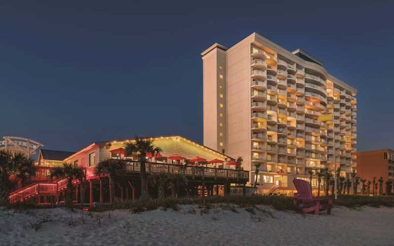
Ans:
[[[79,183],[78,180],[73,181],[73,185]],[[29,186],[23,187],[12,192],[9,196],[10,203],[18,201],[26,201],[39,195],[58,195],[67,187],[67,178],[58,180],[53,183],[35,182]]]

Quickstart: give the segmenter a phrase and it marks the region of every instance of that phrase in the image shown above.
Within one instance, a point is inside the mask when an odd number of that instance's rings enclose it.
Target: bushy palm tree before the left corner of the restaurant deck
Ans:
[[[126,172],[126,166],[123,161],[116,159],[103,160],[94,167],[94,174],[101,176],[109,175],[109,202],[112,203],[115,197],[115,180]]]

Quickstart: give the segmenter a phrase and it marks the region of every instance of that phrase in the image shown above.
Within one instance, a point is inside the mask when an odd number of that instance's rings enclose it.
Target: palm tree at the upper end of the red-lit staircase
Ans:
[[[67,178],[66,187],[66,206],[72,206],[72,181],[74,179],[82,180],[85,177],[84,169],[76,163],[63,163],[61,166],[56,166],[52,169],[50,177],[53,178]],[[85,195],[85,194],[80,194]]]

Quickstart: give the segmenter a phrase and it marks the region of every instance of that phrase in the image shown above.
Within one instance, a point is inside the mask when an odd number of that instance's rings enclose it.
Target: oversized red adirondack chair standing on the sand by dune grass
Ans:
[[[302,179],[293,179],[297,193],[294,194],[293,202],[295,205],[301,204],[303,213],[319,214],[322,210],[327,210],[331,214],[332,198],[313,197],[309,182]]]

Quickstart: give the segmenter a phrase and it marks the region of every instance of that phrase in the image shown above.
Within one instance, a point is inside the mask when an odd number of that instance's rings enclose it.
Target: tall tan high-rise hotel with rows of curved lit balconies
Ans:
[[[204,145],[242,156],[248,171],[260,163],[264,192],[291,192],[294,177],[332,170],[334,142],[342,175],[356,166],[357,90],[319,59],[257,33],[230,48],[216,43],[202,58]],[[334,124],[317,120],[331,112]]]

